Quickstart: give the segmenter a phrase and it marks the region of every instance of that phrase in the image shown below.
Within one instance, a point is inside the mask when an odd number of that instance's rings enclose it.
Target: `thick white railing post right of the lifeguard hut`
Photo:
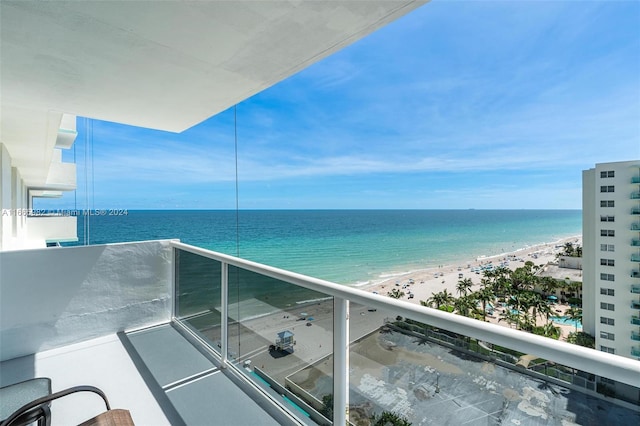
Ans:
[[[333,424],[349,418],[349,300],[333,298]]]

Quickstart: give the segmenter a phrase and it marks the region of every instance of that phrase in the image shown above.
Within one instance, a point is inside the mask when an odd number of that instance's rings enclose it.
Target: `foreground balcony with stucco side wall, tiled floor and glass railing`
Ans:
[[[534,389],[527,401],[546,418],[640,422],[576,390],[595,390],[592,375],[637,387],[635,360],[177,241],[0,261],[2,384],[37,374],[54,391],[98,386],[136,424],[357,424],[382,410],[414,424],[493,423],[496,412],[527,424],[502,389]],[[536,358],[528,374],[519,354]],[[95,410],[60,401],[52,413],[77,424]]]

